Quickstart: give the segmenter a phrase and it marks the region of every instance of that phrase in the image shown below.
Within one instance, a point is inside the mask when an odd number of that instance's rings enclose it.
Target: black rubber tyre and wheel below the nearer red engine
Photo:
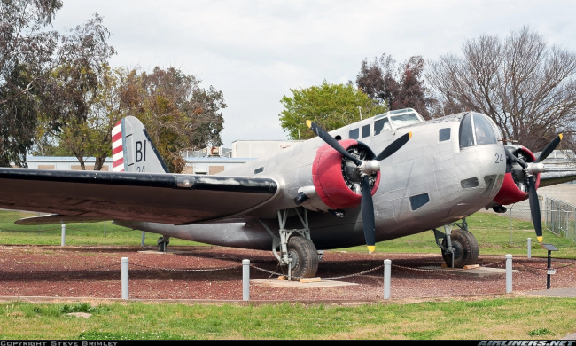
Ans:
[[[312,240],[294,236],[288,240],[288,256],[292,258],[292,273],[296,278],[312,278],[318,271],[318,252]],[[288,273],[288,265],[284,266]]]

